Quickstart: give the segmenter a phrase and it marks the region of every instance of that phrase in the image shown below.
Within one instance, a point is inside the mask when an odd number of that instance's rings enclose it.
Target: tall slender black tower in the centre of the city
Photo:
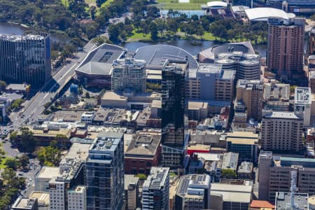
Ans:
[[[181,167],[184,146],[185,71],[188,62],[162,69],[162,166]],[[176,156],[176,157],[175,157]]]

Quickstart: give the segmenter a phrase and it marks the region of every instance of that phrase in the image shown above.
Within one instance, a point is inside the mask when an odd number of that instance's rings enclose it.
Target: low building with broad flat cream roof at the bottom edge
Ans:
[[[211,183],[211,207],[216,210],[248,210],[253,192],[252,181],[221,180]]]

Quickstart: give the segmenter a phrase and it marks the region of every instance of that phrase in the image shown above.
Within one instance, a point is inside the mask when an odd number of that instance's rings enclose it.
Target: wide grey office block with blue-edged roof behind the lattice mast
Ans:
[[[290,192],[292,175],[296,172],[297,193],[315,193],[315,160],[309,158],[286,158],[262,151],[258,167],[258,197],[274,201],[276,192]]]

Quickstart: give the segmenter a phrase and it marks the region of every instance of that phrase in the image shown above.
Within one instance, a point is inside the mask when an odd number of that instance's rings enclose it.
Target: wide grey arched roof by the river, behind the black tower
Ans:
[[[197,60],[186,50],[172,45],[148,45],[138,48],[134,59],[146,60],[147,69],[162,69],[165,61],[185,61],[188,59],[189,68],[197,69]]]

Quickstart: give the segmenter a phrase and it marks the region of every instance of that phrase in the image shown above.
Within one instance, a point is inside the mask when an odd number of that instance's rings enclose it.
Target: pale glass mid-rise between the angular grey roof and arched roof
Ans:
[[[146,92],[146,61],[142,59],[117,59],[111,73],[113,91]]]

